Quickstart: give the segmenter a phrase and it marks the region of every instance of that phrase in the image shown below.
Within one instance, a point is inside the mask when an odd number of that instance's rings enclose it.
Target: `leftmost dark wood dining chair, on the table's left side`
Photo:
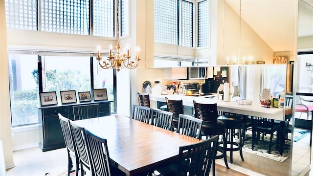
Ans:
[[[65,141],[65,145],[67,147],[67,158],[68,158],[68,169],[67,169],[67,176],[70,175],[72,172],[76,172],[76,176],[78,176],[78,170],[79,170],[79,157],[76,151],[76,146],[73,141],[72,133],[70,132],[70,125],[69,125],[69,119],[61,115],[59,115],[59,120],[61,124],[61,129]],[[72,157],[75,158],[75,169],[71,170],[72,168]]]

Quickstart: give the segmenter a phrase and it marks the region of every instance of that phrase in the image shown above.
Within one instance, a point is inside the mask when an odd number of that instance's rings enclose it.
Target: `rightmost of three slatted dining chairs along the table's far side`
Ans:
[[[178,133],[201,139],[203,120],[191,115],[179,114],[179,122],[181,123],[178,124]]]

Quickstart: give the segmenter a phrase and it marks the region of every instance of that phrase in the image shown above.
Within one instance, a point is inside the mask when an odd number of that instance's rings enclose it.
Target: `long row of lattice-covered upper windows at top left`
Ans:
[[[114,0],[5,0],[6,23],[8,28],[114,37],[114,14],[117,13],[114,2]],[[40,4],[38,10],[37,4]],[[128,35],[129,0],[121,0],[120,5],[122,35]]]

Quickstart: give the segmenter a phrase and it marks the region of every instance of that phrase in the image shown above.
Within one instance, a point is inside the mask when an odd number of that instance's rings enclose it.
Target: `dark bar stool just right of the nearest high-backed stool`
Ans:
[[[242,161],[244,160],[243,156],[243,141],[242,141],[242,130],[243,130],[243,120],[240,116],[236,114],[224,114],[217,118],[218,120],[222,121],[226,126],[226,138],[227,138],[227,147],[226,151],[230,152],[230,163],[233,162],[233,152],[239,151],[240,157]],[[236,132],[237,130],[237,132]],[[239,143],[234,142],[234,137],[237,135],[239,139]]]

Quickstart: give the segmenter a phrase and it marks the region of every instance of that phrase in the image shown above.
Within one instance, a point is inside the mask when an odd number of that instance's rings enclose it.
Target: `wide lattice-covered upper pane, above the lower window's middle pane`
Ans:
[[[89,35],[89,0],[41,0],[41,30]]]

